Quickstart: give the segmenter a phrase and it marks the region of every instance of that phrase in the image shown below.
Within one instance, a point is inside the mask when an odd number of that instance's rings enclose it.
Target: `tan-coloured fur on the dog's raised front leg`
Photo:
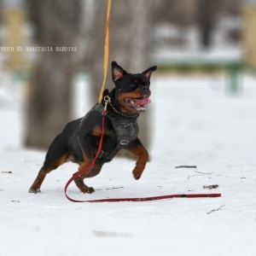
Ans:
[[[136,148],[128,150],[138,157],[136,166],[133,169],[132,173],[135,179],[139,179],[142,176],[145,166],[148,162],[148,151],[141,145],[138,145]]]

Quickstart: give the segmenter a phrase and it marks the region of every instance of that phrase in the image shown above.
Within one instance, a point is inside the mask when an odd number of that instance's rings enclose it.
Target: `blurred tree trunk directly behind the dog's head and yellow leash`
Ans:
[[[141,73],[150,67],[150,11],[153,10],[153,5],[154,3],[147,0],[113,0],[109,31],[109,63],[117,61],[130,73]],[[97,0],[92,68],[96,99],[102,86],[106,10],[107,1]],[[113,88],[110,67],[106,84],[108,89]],[[150,111],[147,110],[147,112]],[[139,117],[141,131],[139,137],[146,147],[148,145],[148,116],[150,113],[143,113]]]

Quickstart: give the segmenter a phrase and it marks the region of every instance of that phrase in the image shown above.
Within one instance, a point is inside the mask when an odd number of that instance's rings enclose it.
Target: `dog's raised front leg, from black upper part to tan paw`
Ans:
[[[135,179],[139,179],[142,176],[145,166],[148,162],[148,151],[146,148],[143,147],[143,144],[138,138],[135,141],[129,143],[125,147],[125,149],[138,157],[136,166],[133,169],[132,174]]]

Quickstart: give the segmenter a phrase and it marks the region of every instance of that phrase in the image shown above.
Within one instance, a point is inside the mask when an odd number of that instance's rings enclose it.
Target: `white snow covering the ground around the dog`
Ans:
[[[21,147],[19,104],[0,105],[1,255],[256,255],[255,79],[243,76],[237,96],[216,75],[159,77],[151,84],[145,114],[154,116],[154,138],[143,177],[133,179],[134,160],[114,159],[86,180],[94,194],[82,195],[72,183],[68,195],[222,197],[73,203],[63,192],[77,171],[72,163],[51,172],[41,194],[29,194],[45,152]],[[9,101],[0,90],[1,96]],[[183,165],[197,168],[175,168]],[[218,189],[203,189],[212,184]]]

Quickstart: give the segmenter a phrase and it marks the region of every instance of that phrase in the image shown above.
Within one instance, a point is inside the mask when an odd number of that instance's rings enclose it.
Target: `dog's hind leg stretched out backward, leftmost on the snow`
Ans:
[[[45,156],[44,166],[38,172],[38,176],[28,191],[35,194],[40,192],[40,187],[44,182],[46,174],[64,164],[69,154],[69,148],[65,140],[63,140],[63,137],[61,135],[55,137],[55,140],[49,146],[49,150]]]

